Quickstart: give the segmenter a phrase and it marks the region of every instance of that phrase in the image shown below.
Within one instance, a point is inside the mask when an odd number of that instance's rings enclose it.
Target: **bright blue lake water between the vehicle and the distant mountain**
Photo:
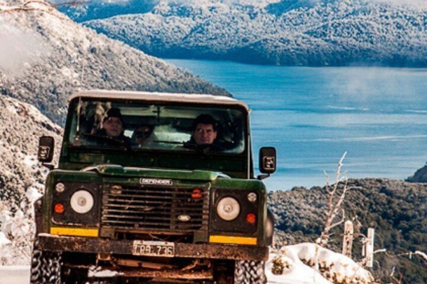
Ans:
[[[427,161],[427,69],[284,67],[168,60],[229,90],[252,109],[255,164],[277,149],[269,190],[335,179],[404,179]]]

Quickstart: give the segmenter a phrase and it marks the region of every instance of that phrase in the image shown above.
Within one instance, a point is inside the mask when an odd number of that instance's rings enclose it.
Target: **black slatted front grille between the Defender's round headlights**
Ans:
[[[138,231],[207,230],[208,190],[200,188],[202,197],[193,198],[194,189],[107,184],[102,198],[101,225]]]

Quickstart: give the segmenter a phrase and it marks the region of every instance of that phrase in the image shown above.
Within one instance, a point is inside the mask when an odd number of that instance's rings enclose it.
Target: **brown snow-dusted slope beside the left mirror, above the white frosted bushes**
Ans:
[[[37,162],[38,139],[55,138],[56,154],[62,128],[43,116],[34,106],[0,96],[0,201],[19,204],[33,188],[41,192],[47,169]]]

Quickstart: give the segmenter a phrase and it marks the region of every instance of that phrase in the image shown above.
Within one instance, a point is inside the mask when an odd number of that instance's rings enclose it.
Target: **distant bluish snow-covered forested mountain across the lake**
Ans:
[[[427,66],[420,1],[160,1],[149,13],[85,25],[160,57]]]

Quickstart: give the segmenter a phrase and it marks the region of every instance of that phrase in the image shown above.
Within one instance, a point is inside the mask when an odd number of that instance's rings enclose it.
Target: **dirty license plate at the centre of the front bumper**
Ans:
[[[133,241],[132,254],[173,257],[175,244],[160,241]]]

